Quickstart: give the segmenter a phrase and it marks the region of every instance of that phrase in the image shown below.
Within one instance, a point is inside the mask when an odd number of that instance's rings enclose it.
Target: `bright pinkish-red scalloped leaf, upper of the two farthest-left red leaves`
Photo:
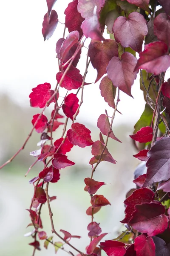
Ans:
[[[54,93],[54,90],[51,89],[51,84],[44,83],[44,84],[38,84],[37,87],[32,89],[32,93],[30,93],[30,105],[34,108],[44,108],[46,102],[48,99],[51,98],[51,96]],[[52,100],[51,102],[53,102]]]

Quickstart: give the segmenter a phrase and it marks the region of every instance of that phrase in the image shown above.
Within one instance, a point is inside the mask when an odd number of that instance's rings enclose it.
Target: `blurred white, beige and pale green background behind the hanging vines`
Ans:
[[[65,22],[63,15],[69,0],[58,0],[54,6],[61,23]],[[32,116],[40,113],[40,109],[31,108],[29,94],[31,89],[38,84],[48,82],[52,89],[56,86],[56,73],[58,64],[55,45],[62,37],[64,25],[58,23],[52,38],[43,40],[41,29],[42,21],[47,12],[45,0],[8,0],[0,1],[1,47],[0,47],[0,165],[8,160],[23,144],[31,131]],[[108,35],[105,35],[108,38]],[[88,45],[89,41],[87,41]],[[83,49],[84,56],[86,49]],[[82,53],[83,55],[83,53]],[[85,57],[78,64],[81,74],[85,70]],[[96,79],[96,70],[91,66],[88,70],[86,82]],[[60,98],[65,96],[65,90],[60,90]],[[133,172],[139,161],[133,157],[137,152],[133,148],[129,137],[133,134],[133,126],[144,110],[143,92],[140,90],[139,77],[132,87],[131,98],[125,93],[120,93],[118,110],[113,122],[113,132],[122,143],[109,139],[108,149],[117,163],[102,162],[94,173],[94,179],[108,183],[99,189],[99,194],[104,195],[111,206],[102,207],[94,215],[94,221],[100,222],[102,233],[109,233],[106,239],[116,238],[119,230],[125,227],[119,222],[124,218],[125,195],[129,189],[135,188]],[[99,82],[85,86],[84,103],[77,116],[77,122],[82,122],[91,130],[92,140],[99,139],[99,129],[96,126],[100,114],[108,111],[112,116],[113,109],[108,106],[100,95]],[[45,110],[45,115],[50,116],[51,109]],[[62,114],[62,111],[60,111]],[[70,127],[71,122],[68,123]],[[54,133],[54,140],[59,138],[62,127]],[[26,228],[30,223],[30,217],[26,209],[29,208],[33,195],[33,185],[28,181],[37,176],[43,169],[38,162],[27,177],[24,177],[29,166],[35,158],[29,152],[38,149],[37,143],[40,134],[35,132],[22,151],[12,163],[0,170],[0,256],[31,256],[33,247],[28,243],[33,241],[31,237],[25,238],[24,234],[31,231]],[[79,148],[74,146],[68,153],[68,158],[76,163],[60,171],[60,180],[51,183],[49,195],[57,196],[57,200],[51,202],[54,213],[56,230],[67,230],[72,235],[82,236],[81,239],[72,239],[79,250],[85,251],[89,244],[87,226],[91,217],[86,215],[86,209],[90,206],[90,196],[84,191],[84,178],[91,176],[91,147]],[[42,207],[43,230],[51,236],[51,225],[47,205]],[[61,233],[62,234],[62,233]],[[59,241],[54,237],[54,241]],[[43,248],[36,251],[37,256],[55,255],[54,247],[49,244],[48,250]],[[62,250],[57,252],[65,255]],[[76,255],[77,253],[75,253]]]

